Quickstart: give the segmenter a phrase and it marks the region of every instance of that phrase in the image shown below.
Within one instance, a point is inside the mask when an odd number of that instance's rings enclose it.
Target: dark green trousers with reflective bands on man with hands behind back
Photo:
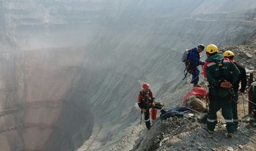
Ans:
[[[207,128],[210,131],[214,131],[217,124],[217,111],[222,109],[222,116],[226,121],[226,130],[228,133],[235,132],[235,125],[233,123],[233,115],[231,108],[231,100],[222,100],[221,97],[219,100],[211,101],[211,113],[207,117]]]

